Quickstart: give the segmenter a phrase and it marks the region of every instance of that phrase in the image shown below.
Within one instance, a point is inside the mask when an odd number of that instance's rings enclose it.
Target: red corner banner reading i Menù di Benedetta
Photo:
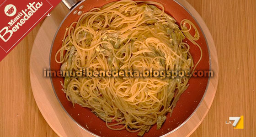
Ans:
[[[5,0],[0,2],[0,61],[61,0]]]

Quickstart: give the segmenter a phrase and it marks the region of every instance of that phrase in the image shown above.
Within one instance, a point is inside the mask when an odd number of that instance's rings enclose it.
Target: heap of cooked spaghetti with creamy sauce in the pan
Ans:
[[[160,7],[162,10],[160,10]],[[188,29],[187,26],[190,26]],[[194,28],[195,36],[190,31]],[[67,27],[55,55],[61,70],[189,70],[194,66],[190,46],[199,38],[189,20],[176,20],[160,3],[120,0],[82,14]],[[58,60],[57,57],[60,59]],[[172,113],[189,77],[65,77],[67,99],[90,108],[112,130],[143,136],[154,124],[160,129]],[[171,116],[171,114],[170,114]]]

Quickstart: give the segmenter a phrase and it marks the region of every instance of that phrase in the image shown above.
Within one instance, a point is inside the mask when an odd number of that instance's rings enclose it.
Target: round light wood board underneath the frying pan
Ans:
[[[185,0],[179,1],[187,8],[187,10],[189,10],[194,15],[206,35],[214,77],[210,79],[204,99],[194,115],[190,117],[190,119],[183,126],[168,135],[168,137],[185,137],[191,135],[192,132],[195,131],[195,129],[203,121],[203,118],[206,116],[213,102],[219,78],[217,52],[208,28],[204,24],[202,18],[192,8],[191,5],[189,5]],[[64,7],[64,5],[59,4],[51,12],[51,16],[45,19],[37,33],[30,59],[30,79],[33,95],[44,119],[59,136],[92,137],[89,132],[86,132],[85,130],[80,128],[80,126],[77,125],[67,115],[67,113],[65,113],[53,92],[50,78],[43,77],[42,73],[44,68],[48,68],[50,47],[53,41],[54,34],[67,13],[67,8]]]

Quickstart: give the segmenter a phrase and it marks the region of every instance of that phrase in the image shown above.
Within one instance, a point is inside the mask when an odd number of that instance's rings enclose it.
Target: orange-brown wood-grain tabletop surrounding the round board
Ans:
[[[191,137],[256,137],[256,1],[188,0],[212,33],[219,87]],[[57,137],[37,108],[29,79],[33,40],[41,24],[0,62],[0,137]],[[225,124],[244,116],[244,129]]]

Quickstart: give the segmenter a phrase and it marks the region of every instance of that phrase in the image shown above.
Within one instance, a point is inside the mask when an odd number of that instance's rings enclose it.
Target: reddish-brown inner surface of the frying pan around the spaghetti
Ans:
[[[107,3],[117,0],[85,0],[84,2],[80,3],[80,5],[84,5],[82,11],[86,12],[91,10],[95,7],[101,7]],[[208,47],[207,42],[203,36],[203,33],[197,22],[193,19],[193,17],[183,8],[181,5],[176,3],[173,0],[151,0],[160,2],[165,7],[165,13],[173,16],[177,24],[180,26],[180,22],[183,19],[188,19],[192,21],[195,26],[197,27],[200,39],[197,43],[203,49],[203,59],[197,66],[196,70],[209,70],[210,63],[209,63],[209,54],[208,54]],[[80,6],[77,6],[73,9],[79,10]],[[58,49],[61,47],[63,35],[67,26],[73,21],[77,21],[79,16],[76,14],[74,15],[73,12],[66,17],[64,22],[61,24],[59,31],[56,34],[56,38],[53,41],[52,52],[50,55],[50,69],[51,70],[59,70],[60,65],[56,63],[54,60],[54,56]],[[192,54],[192,58],[196,63],[200,58],[200,50],[199,48],[185,39],[190,45],[190,52]],[[68,112],[68,114],[82,127],[86,130],[101,136],[101,137],[137,137],[137,133],[130,133],[126,130],[122,131],[113,131],[107,128],[104,121],[99,119],[95,114],[91,112],[88,108],[83,108],[80,105],[75,104],[75,108],[73,107],[72,103],[66,99],[66,95],[61,90],[62,86],[60,85],[60,81],[63,81],[63,78],[60,77],[52,77],[53,89],[57,97],[59,98],[60,103],[63,105],[64,109]],[[189,116],[192,115],[193,111],[197,108],[200,101],[203,98],[203,95],[206,91],[207,84],[208,84],[208,77],[192,77],[189,80],[189,87],[188,89],[181,95],[180,100],[177,102],[176,107],[170,117],[167,114],[167,119],[160,130],[156,130],[156,125],[152,126],[148,133],[145,133],[143,137],[159,137],[165,135],[168,132],[171,132],[176,127],[180,126],[184,121],[188,119]],[[79,114],[79,115],[78,115]]]

